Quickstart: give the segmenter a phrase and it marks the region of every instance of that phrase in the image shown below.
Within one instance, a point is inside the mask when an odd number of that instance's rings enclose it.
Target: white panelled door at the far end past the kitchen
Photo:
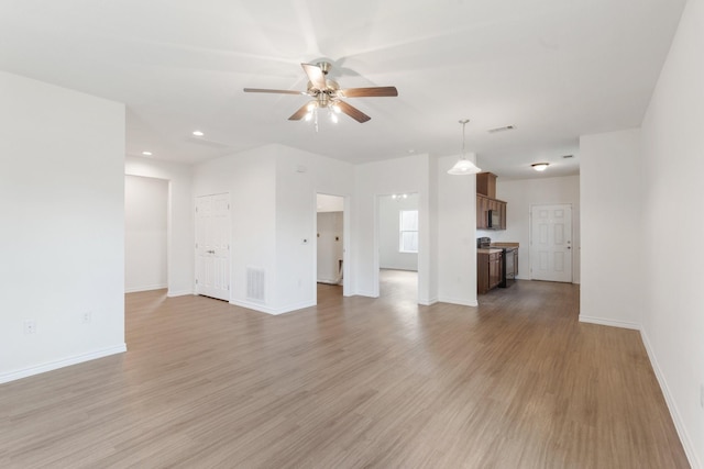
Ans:
[[[534,280],[572,281],[572,205],[530,209],[530,272]]]

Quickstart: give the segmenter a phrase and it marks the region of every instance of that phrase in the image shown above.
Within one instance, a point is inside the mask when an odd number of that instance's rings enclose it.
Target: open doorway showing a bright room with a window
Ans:
[[[418,301],[418,193],[377,199],[380,297]]]

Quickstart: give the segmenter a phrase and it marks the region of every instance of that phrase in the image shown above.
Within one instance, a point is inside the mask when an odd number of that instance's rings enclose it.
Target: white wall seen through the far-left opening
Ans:
[[[124,290],[167,288],[168,181],[124,177]]]

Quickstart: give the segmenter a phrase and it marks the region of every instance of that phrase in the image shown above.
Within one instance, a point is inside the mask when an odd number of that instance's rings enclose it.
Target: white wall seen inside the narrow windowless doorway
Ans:
[[[318,281],[337,283],[340,279],[340,260],[343,260],[343,212],[318,212],[317,271]]]

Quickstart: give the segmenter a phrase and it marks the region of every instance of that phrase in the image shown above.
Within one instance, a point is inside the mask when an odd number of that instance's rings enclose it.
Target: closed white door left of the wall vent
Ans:
[[[230,300],[230,194],[196,198],[196,293]]]

